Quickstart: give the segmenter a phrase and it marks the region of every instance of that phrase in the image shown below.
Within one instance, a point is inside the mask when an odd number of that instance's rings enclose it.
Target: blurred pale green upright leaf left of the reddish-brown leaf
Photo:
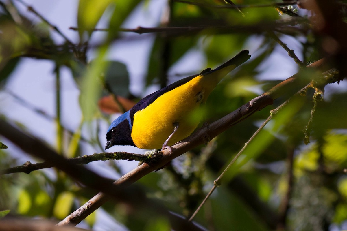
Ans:
[[[107,47],[104,46],[99,49],[96,59],[86,68],[82,79],[79,103],[86,121],[91,121],[98,111],[97,102],[104,82],[103,73],[108,63],[105,61],[106,53]]]

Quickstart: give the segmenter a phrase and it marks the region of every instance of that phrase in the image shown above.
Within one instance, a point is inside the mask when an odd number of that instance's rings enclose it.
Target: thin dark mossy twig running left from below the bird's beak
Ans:
[[[137,160],[144,163],[150,163],[162,155],[159,153],[153,154],[135,154],[135,153],[126,153],[126,152],[117,152],[117,153],[94,153],[93,155],[84,155],[80,157],[70,158],[68,161],[72,164],[88,164],[93,161],[105,161],[105,160]],[[0,170],[1,175],[11,174],[11,173],[26,173],[29,174],[34,170],[39,170],[43,168],[54,167],[54,163],[43,162],[32,164],[29,161],[23,165],[7,168]]]

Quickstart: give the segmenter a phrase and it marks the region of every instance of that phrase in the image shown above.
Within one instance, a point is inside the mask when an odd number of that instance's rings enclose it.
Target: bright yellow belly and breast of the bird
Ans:
[[[214,87],[205,86],[204,82],[202,76],[197,76],[136,112],[131,133],[134,144],[142,149],[161,148],[177,122],[179,128],[170,139],[169,146],[191,135],[200,122],[199,119],[192,121],[192,112],[205,101]]]

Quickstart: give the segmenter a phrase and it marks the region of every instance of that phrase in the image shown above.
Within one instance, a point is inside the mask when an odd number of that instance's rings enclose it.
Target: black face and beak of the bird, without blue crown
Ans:
[[[117,126],[113,127],[106,134],[107,144],[105,149],[112,147],[113,145],[132,145],[135,146],[133,139],[131,138],[131,131],[128,120],[123,120]]]

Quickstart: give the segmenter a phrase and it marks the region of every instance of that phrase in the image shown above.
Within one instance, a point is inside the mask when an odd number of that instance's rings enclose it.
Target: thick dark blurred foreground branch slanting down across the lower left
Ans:
[[[42,141],[40,141],[37,138],[28,136],[24,132],[18,130],[17,128],[15,128],[14,126],[6,122],[1,116],[0,116],[0,134],[6,137],[7,139],[9,139],[12,143],[16,144],[26,153],[29,153],[33,156],[46,160],[47,162],[53,164],[55,167],[64,171],[66,174],[74,178],[76,181],[81,182],[83,185],[89,188],[92,188],[94,190],[97,190],[99,192],[100,191],[103,192],[101,194],[103,195],[104,201],[100,201],[100,200],[95,202],[89,201],[86,203],[87,207],[88,207],[88,204],[97,205],[99,207],[110,198],[116,199],[117,201],[128,203],[131,206],[134,206],[136,208],[145,207],[147,210],[151,210],[157,214],[166,216],[170,220],[172,228],[175,230],[201,231],[201,228],[197,227],[193,223],[187,222],[185,219],[170,213],[158,202],[154,201],[153,199],[147,198],[144,195],[144,193],[142,193],[142,191],[139,190],[138,188],[135,189],[134,186],[130,188],[125,188],[124,186],[129,185],[128,182],[127,184],[123,184],[123,185],[112,184],[113,181],[111,179],[101,177],[98,174],[92,172],[91,170],[85,168],[84,166],[70,163],[67,159],[58,155],[56,151],[46,146]],[[166,156],[168,157],[170,155],[166,153]],[[161,160],[162,159],[164,158],[161,158]],[[159,162],[160,161],[157,161],[156,163],[159,163]],[[155,167],[155,166],[158,166],[158,164],[150,163],[150,164],[147,164],[147,166],[150,166],[150,167],[154,166],[153,170],[159,168],[159,167]],[[85,213],[81,213],[77,211],[75,218],[80,219],[81,221],[86,217],[85,215],[86,215]],[[74,223],[77,223],[77,222],[74,222]]]

